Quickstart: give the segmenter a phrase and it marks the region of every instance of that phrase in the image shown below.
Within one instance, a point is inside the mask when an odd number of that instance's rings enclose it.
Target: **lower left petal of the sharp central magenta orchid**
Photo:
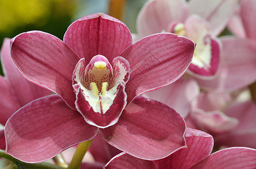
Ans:
[[[45,96],[25,105],[8,120],[6,152],[24,162],[46,161],[92,139],[97,131],[58,95]]]

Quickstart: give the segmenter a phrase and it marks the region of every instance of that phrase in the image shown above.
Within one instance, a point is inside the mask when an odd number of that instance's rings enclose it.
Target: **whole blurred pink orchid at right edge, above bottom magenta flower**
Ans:
[[[188,127],[214,136],[216,148],[247,146],[256,148],[255,111],[251,97],[228,92],[201,92],[185,118]]]

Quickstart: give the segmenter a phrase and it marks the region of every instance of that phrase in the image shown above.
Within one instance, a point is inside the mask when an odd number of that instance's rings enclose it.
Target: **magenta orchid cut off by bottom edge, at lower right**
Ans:
[[[146,161],[126,153],[116,155],[105,168],[255,168],[256,150],[245,147],[233,147],[211,153],[213,138],[211,135],[188,128],[187,147],[170,156],[156,161]]]

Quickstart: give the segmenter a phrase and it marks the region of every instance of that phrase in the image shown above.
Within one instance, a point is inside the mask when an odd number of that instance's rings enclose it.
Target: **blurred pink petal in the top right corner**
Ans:
[[[255,20],[256,15],[256,1],[254,0],[244,0],[241,1],[241,18],[242,23],[244,24],[246,35],[249,38],[256,40],[256,23],[252,20]]]

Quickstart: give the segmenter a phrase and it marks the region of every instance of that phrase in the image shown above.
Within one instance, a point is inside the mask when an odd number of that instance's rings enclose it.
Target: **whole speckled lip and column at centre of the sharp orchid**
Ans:
[[[73,73],[77,110],[86,122],[101,128],[115,124],[127,103],[124,88],[129,63],[123,57],[116,57],[112,65],[105,56],[96,55],[88,65],[81,59]],[[111,117],[113,112],[118,114]],[[104,122],[102,119],[106,117],[112,119]]]

